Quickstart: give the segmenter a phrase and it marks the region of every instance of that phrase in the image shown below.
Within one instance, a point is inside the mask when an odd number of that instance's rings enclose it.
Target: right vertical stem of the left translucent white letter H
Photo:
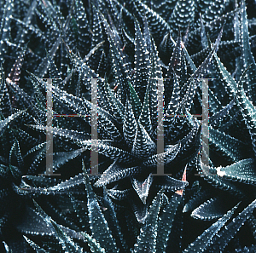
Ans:
[[[89,175],[99,175],[98,174],[98,133],[97,133],[97,97],[98,97],[98,86],[97,78],[91,79],[91,150],[90,150],[90,174]]]

